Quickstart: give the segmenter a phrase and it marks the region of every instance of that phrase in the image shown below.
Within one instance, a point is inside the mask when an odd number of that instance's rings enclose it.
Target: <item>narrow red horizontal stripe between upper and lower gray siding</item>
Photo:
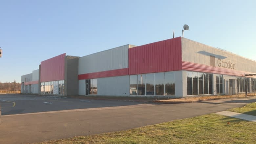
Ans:
[[[123,76],[123,75],[128,75],[128,68],[103,71],[103,72],[79,74],[78,79],[81,80],[81,79],[92,79],[92,78]]]

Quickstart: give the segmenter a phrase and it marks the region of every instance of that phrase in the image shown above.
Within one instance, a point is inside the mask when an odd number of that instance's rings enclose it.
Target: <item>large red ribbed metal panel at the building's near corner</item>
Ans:
[[[129,49],[129,75],[181,70],[181,37]]]

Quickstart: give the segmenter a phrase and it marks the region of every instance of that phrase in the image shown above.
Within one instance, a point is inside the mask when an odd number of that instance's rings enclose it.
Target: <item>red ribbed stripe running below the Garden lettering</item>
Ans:
[[[182,70],[195,71],[195,72],[208,72],[208,73],[234,75],[234,76],[245,76],[245,73],[251,74],[250,72],[235,71],[231,69],[212,67],[212,66],[185,62],[185,61],[182,61]],[[248,77],[256,77],[256,76],[248,76]]]

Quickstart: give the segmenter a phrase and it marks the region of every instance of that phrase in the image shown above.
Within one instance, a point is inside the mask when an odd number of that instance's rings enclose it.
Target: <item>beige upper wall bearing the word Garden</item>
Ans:
[[[256,61],[247,59],[237,54],[210,47],[186,38],[181,38],[182,61],[211,66],[210,55],[215,56],[215,67],[218,66],[218,58],[224,62],[235,64],[235,71],[256,73]]]

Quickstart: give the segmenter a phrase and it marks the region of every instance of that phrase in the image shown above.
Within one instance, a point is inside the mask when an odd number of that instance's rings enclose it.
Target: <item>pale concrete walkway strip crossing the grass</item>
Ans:
[[[234,117],[234,118],[239,118],[239,119],[244,119],[244,120],[256,122],[256,116],[253,116],[253,115],[242,114],[242,113],[235,113],[235,112],[229,112],[229,111],[218,112],[216,114],[220,114],[220,115],[224,115],[224,116],[229,116],[229,117]]]

